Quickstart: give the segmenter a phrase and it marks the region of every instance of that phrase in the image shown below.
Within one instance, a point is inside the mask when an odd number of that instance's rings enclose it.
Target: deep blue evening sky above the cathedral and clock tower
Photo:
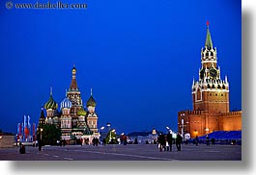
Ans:
[[[230,110],[242,109],[241,1],[76,2],[88,8],[8,10],[0,1],[2,130],[15,133],[23,115],[38,124],[50,87],[60,106],[73,63],[84,103],[93,87],[99,128],[177,130],[178,112],[192,110],[207,20],[221,79],[230,83]]]

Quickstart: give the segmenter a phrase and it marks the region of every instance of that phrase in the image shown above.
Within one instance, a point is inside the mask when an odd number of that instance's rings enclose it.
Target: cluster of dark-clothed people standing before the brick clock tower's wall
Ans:
[[[175,138],[175,144],[177,147],[177,151],[182,151],[182,141],[183,137],[178,133],[177,137]],[[160,133],[157,137],[158,148],[161,151],[172,151],[172,144],[174,142],[174,138],[172,134],[169,132],[166,136]]]

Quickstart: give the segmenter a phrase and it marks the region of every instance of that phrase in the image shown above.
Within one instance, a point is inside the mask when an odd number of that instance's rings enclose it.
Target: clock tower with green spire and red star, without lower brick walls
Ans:
[[[194,111],[205,111],[210,115],[229,112],[229,83],[227,76],[225,80],[221,80],[216,56],[208,21],[205,47],[201,49],[199,81],[193,80],[192,99]]]

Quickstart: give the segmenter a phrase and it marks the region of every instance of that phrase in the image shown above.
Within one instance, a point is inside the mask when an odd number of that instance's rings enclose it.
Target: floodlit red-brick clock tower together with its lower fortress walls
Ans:
[[[242,130],[242,111],[229,111],[229,82],[222,80],[217,66],[216,48],[207,25],[205,47],[201,49],[199,81],[192,83],[192,111],[178,112],[178,131],[191,137],[213,131]]]

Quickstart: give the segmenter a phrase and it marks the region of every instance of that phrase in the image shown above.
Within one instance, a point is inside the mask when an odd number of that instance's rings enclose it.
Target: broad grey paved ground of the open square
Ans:
[[[182,145],[182,151],[160,152],[156,145],[68,145],[26,146],[26,154],[19,147],[0,148],[0,161],[242,161],[240,145]]]

